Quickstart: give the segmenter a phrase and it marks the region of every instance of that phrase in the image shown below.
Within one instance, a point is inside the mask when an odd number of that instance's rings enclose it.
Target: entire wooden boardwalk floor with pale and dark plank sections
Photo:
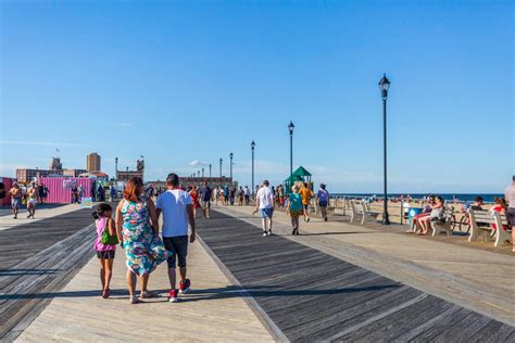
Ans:
[[[211,220],[198,220],[200,242],[190,246],[189,255],[194,291],[181,297],[183,302],[166,302],[168,285],[162,265],[150,282],[159,296],[146,304],[129,305],[121,251],[115,259],[113,296],[105,301],[99,296],[98,262],[91,258],[90,212],[77,211],[0,231],[0,238],[5,234],[5,242],[18,244],[27,256],[24,259],[20,255],[23,262],[12,265],[13,258],[4,256],[9,253],[1,255],[5,266],[0,275],[4,340],[21,334],[21,342],[64,338],[135,342],[515,341],[515,329],[503,317],[513,317],[511,298],[505,298],[508,305],[492,312],[492,317],[488,314],[490,307],[479,306],[477,300],[467,302],[442,292],[449,282],[461,281],[468,294],[470,281],[443,269],[420,269],[413,263],[393,261],[388,250],[374,246],[372,239],[369,247],[362,249],[360,244],[365,243],[359,238],[369,233],[377,237],[377,229],[343,223],[322,227],[313,219],[301,227],[305,236],[291,238],[288,227],[277,224],[276,232],[280,234],[263,238],[255,226],[260,219],[248,215],[249,207],[218,208]],[[277,219],[286,223],[282,214],[277,214]],[[41,234],[38,237],[46,232],[47,238],[30,246],[14,240],[11,230]],[[349,237],[355,245],[344,241]],[[409,242],[397,233],[392,238],[401,245]],[[417,249],[434,253],[438,249],[443,255],[453,246],[406,239],[423,242]],[[394,244],[389,249],[393,250]],[[399,258],[403,258],[409,250],[398,251]],[[512,257],[470,251],[491,263]],[[465,254],[462,259],[470,257]],[[467,272],[464,275],[468,277]],[[491,277],[501,287],[510,283],[493,274]],[[428,281],[431,279],[435,284]],[[414,280],[429,287],[419,287]],[[482,292],[481,287],[474,290]],[[491,296],[487,291],[485,294]],[[498,301],[485,298],[486,303]],[[103,316],[109,314],[112,326],[106,328]],[[127,327],[131,328],[130,334]]]

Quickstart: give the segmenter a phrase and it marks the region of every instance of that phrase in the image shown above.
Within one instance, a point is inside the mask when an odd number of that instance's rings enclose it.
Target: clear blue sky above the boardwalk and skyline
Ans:
[[[515,170],[511,1],[2,1],[0,175],[135,167],[235,177],[294,166],[379,192],[500,192]],[[475,161],[476,156],[479,157]]]

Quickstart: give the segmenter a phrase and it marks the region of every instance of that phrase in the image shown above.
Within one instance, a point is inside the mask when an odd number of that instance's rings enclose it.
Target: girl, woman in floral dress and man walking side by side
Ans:
[[[167,176],[166,188],[154,204],[151,198],[145,195],[141,178],[134,177],[128,181],[123,199],[114,209],[114,219],[113,208],[106,203],[100,204],[93,213],[97,229],[93,247],[100,262],[104,298],[111,294],[110,283],[117,244],[125,252],[130,304],[154,296],[148,288],[149,278],[163,262],[168,267],[168,301],[175,303],[179,294],[190,290],[191,281],[187,278],[186,266],[188,244],[196,241],[193,200],[189,192],[179,189],[179,177],[176,174]],[[163,225],[160,228],[161,215]],[[188,228],[191,228],[190,233]],[[178,289],[177,266],[180,279]],[[141,287],[139,296],[136,294],[138,278]]]

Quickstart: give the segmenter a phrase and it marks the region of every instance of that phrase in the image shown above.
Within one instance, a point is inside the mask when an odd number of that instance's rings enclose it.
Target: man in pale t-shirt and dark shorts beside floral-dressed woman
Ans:
[[[168,174],[166,188],[167,191],[158,198],[156,209],[158,218],[163,213],[163,243],[168,251],[168,279],[172,288],[168,292],[168,301],[176,303],[176,261],[178,261],[180,274],[178,292],[187,293],[191,285],[191,281],[186,278],[186,256],[188,254],[188,223],[191,227],[189,242],[193,243],[196,239],[194,216],[191,196],[179,189],[179,177],[176,174]]]

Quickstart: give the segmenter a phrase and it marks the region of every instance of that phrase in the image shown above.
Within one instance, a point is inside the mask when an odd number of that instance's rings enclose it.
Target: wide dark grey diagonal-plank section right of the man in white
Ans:
[[[216,213],[199,234],[291,341],[515,341],[515,328]]]

